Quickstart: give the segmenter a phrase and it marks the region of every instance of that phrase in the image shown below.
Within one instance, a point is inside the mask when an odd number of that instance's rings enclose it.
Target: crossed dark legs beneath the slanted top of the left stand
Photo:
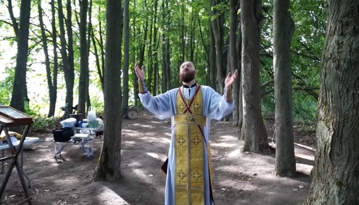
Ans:
[[[27,189],[27,186],[26,186],[26,182],[25,182],[25,179],[23,177],[23,173],[22,173],[22,169],[21,169],[21,166],[20,164],[18,163],[17,161],[17,158],[20,154],[20,151],[22,149],[22,145],[25,141],[25,137],[30,129],[30,126],[31,126],[32,122],[31,123],[27,123],[26,127],[25,127],[25,130],[23,131],[22,133],[22,136],[21,136],[21,140],[20,140],[20,143],[19,145],[17,146],[16,150],[14,149],[12,143],[11,143],[11,139],[10,139],[10,135],[8,133],[8,127],[13,127],[15,125],[6,125],[6,123],[3,123],[1,122],[1,125],[0,125],[0,133],[1,131],[3,130],[5,132],[5,135],[6,135],[6,141],[9,145],[9,150],[10,150],[10,153],[11,153],[11,156],[9,157],[3,157],[3,158],[0,158],[0,162],[3,162],[3,161],[6,161],[6,160],[12,160],[11,161],[11,164],[7,170],[7,173],[6,173],[6,176],[4,178],[4,181],[2,182],[2,185],[1,185],[1,188],[0,188],[0,198],[2,197],[2,194],[5,190],[5,187],[6,187],[6,184],[10,178],[10,175],[11,175],[11,172],[13,170],[14,167],[16,167],[16,170],[17,170],[17,174],[19,176],[19,179],[20,179],[20,182],[21,182],[21,186],[22,186],[22,189],[24,191],[24,194],[25,194],[25,197],[26,199],[17,203],[16,205],[22,205],[22,204],[25,204],[26,202],[28,203],[28,205],[32,205],[32,197],[29,196],[29,192],[28,192],[28,189]],[[18,125],[16,125],[18,126]]]

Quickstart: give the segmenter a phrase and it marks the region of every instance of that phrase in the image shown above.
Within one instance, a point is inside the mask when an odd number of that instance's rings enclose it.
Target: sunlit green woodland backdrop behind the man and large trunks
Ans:
[[[57,9],[59,2],[63,10],[62,13],[59,13]],[[85,2],[85,0],[81,2]],[[58,117],[59,107],[65,105],[66,93],[69,94],[65,82],[66,69],[69,69],[70,73],[73,70],[73,105],[78,104],[79,95],[84,96],[79,92],[81,83],[85,87],[85,84],[88,83],[90,101],[88,105],[94,106],[99,114],[103,112],[106,2],[90,0],[84,4],[86,3],[88,5],[85,16],[86,25],[83,25],[83,28],[87,32],[81,33],[80,22],[81,17],[84,18],[84,16],[80,15],[83,8],[79,5],[79,1],[31,1],[26,95],[30,100],[27,112],[38,119],[34,128],[42,129],[47,126],[49,122],[53,121],[48,117]],[[52,4],[55,6],[54,13],[51,10]],[[11,101],[14,67],[16,66],[19,5],[20,1],[14,0],[0,2],[2,31],[0,33],[0,63],[3,65],[0,67],[0,101],[3,104],[10,104]],[[236,6],[239,14],[239,4]],[[295,23],[291,47],[294,120],[304,123],[303,125],[311,125],[316,122],[326,12],[322,0],[292,1],[290,7]],[[39,9],[41,13],[39,13]],[[71,12],[68,12],[68,9]],[[274,116],[275,111],[273,2],[264,0],[262,10],[260,92],[263,118],[267,118]],[[198,69],[198,83],[210,85],[221,93],[221,83],[218,82],[221,82],[230,70],[229,11],[230,4],[227,1],[130,1],[129,16],[127,16],[129,18],[129,35],[126,35],[125,26],[122,37],[130,39],[128,47],[125,45],[125,40],[122,41],[121,88],[123,89],[122,93],[129,92],[128,96],[124,95],[124,101],[130,105],[136,104],[137,107],[141,107],[139,101],[135,103],[137,94],[134,94],[137,89],[134,82],[137,80],[132,68],[136,60],[139,60],[141,65],[147,66],[147,83],[154,95],[179,86],[179,65],[184,60],[195,63]],[[119,16],[122,12],[119,11]],[[40,16],[42,16],[42,22],[39,21]],[[55,27],[52,27],[51,24],[53,18],[55,18]],[[240,15],[238,15],[237,22],[236,34],[237,42],[239,42],[241,38],[241,33],[238,32],[238,30],[240,31]],[[43,24],[43,32],[41,24]],[[56,50],[54,50],[53,44],[54,32],[56,33]],[[86,62],[81,61],[80,36],[83,33],[86,35],[86,44],[89,45],[87,46],[88,82],[80,80],[81,63],[84,63],[84,67],[87,66]],[[64,39],[61,39],[62,35]],[[66,45],[65,50],[61,50],[63,43]],[[237,43],[236,46],[239,49],[241,45]],[[216,47],[219,50],[216,50]],[[128,50],[127,55],[129,56],[127,62],[124,60],[126,59],[126,50]],[[216,53],[222,53],[222,55],[216,55]],[[237,53],[240,56],[240,51]],[[82,56],[85,55],[82,54]],[[64,56],[67,56],[67,62],[64,62]],[[239,66],[240,59],[239,57]],[[52,97],[52,103],[51,91],[53,94],[56,93],[55,97]],[[124,102],[125,106],[126,102]],[[308,126],[308,129],[313,129],[313,127]]]

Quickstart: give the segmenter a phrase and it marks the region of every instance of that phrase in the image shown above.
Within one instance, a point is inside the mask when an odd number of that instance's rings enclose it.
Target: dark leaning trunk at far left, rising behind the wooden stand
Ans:
[[[30,27],[30,11],[31,1],[21,0],[20,5],[20,24],[18,29],[18,41],[17,41],[17,55],[16,55],[16,67],[15,77],[12,87],[12,95],[10,106],[24,112],[24,97],[26,87],[26,70],[27,70],[27,56],[28,56],[28,35]]]

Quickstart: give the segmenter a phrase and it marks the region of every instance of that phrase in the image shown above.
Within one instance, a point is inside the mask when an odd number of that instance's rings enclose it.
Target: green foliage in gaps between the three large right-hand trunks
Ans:
[[[326,13],[324,1],[298,0],[291,3],[291,15],[295,23],[292,38],[292,81],[293,87],[319,88],[321,55],[324,46]],[[272,26],[273,1],[264,0],[261,49],[261,82],[273,80]],[[273,85],[265,90],[274,89]],[[319,89],[314,89],[319,93]],[[274,94],[262,99],[263,116],[274,117]],[[293,90],[293,116],[297,122],[314,123],[316,121],[317,101],[303,90]]]

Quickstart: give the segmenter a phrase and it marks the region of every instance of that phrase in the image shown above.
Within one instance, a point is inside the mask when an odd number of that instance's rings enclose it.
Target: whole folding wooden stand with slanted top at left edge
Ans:
[[[0,188],[0,198],[2,197],[2,194],[5,190],[6,184],[8,182],[8,179],[10,178],[10,174],[15,166],[16,170],[17,170],[17,174],[18,174],[20,182],[21,182],[22,189],[23,189],[25,197],[26,197],[25,200],[19,202],[16,205],[22,205],[22,204],[25,204],[26,202],[29,205],[32,205],[32,202],[31,202],[32,198],[29,196],[28,189],[27,189],[25,179],[22,174],[20,164],[17,161],[19,153],[22,149],[22,145],[25,141],[26,135],[27,135],[31,125],[32,125],[32,117],[30,117],[18,110],[15,110],[9,106],[4,106],[4,105],[0,104],[0,133],[2,132],[2,130],[5,132],[6,141],[9,145],[9,150],[11,153],[11,156],[9,156],[9,157],[0,158],[0,162],[6,161],[6,160],[12,160],[11,164],[8,168],[8,171],[6,173],[6,176],[4,178],[4,181],[2,182],[2,185]],[[10,136],[8,133],[8,128],[9,127],[17,127],[17,126],[25,126],[25,130],[23,131],[21,139],[20,139],[20,143],[15,150],[11,143],[11,139],[10,139]]]

